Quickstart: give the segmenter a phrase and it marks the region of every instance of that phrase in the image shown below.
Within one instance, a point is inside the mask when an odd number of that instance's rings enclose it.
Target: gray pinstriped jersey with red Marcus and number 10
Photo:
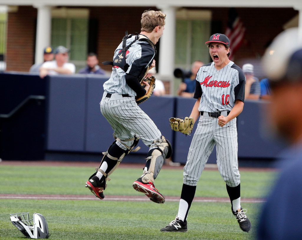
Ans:
[[[202,66],[196,81],[194,98],[201,96],[200,112],[231,111],[236,99],[244,101],[245,77],[232,61],[218,71],[214,62]]]

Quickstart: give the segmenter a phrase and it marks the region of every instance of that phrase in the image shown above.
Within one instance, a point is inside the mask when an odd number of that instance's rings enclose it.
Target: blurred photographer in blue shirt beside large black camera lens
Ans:
[[[195,92],[195,81],[196,81],[196,74],[199,68],[204,65],[201,61],[195,61],[192,63],[191,67],[191,77],[187,77],[184,81],[179,85],[177,90],[178,96],[183,97],[193,97]]]

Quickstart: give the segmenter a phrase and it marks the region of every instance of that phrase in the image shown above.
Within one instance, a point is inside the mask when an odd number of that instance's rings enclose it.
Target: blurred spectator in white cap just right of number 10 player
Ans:
[[[257,77],[254,77],[254,66],[252,64],[244,64],[242,71],[246,76],[245,99],[259,99],[260,83]]]

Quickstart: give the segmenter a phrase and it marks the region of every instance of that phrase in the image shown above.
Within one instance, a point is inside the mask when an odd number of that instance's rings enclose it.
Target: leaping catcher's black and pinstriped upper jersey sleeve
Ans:
[[[155,56],[155,51],[149,44],[141,43],[138,45],[141,46],[141,51],[136,51],[134,53],[133,58],[130,60],[130,66],[126,72],[127,74],[136,77],[140,76],[148,65],[151,65]]]

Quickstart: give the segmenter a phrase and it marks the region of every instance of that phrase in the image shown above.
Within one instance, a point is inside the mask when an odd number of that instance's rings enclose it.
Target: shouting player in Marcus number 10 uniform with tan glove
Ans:
[[[243,110],[245,77],[243,71],[230,61],[230,40],[224,34],[214,34],[206,42],[213,62],[202,66],[196,75],[194,98],[197,99],[190,117],[170,119],[173,130],[189,134],[199,118],[184,167],[184,182],[178,214],[162,232],[186,232],[187,216],[196,185],[216,144],[217,166],[226,182],[232,212],[240,228],[248,232],[251,223],[246,209],[240,205],[240,174],[237,160],[236,117]]]

